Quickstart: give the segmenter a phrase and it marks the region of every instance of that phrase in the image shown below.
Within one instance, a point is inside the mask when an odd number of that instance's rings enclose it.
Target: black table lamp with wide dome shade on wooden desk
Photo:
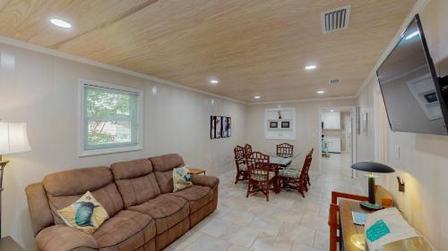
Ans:
[[[366,174],[368,178],[368,201],[363,201],[359,205],[367,210],[379,210],[383,209],[383,205],[376,204],[375,202],[375,175],[374,172],[395,172],[392,167],[385,165],[383,163],[375,162],[358,162],[351,165],[351,168],[369,172]]]

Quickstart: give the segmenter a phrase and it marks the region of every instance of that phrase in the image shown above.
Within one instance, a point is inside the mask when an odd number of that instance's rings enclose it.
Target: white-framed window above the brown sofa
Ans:
[[[142,90],[80,80],[80,156],[142,149]]]

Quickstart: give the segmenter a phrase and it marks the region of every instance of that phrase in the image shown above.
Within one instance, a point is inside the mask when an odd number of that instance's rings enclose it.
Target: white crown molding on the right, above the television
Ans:
[[[384,59],[392,52],[392,49],[395,47],[395,45],[401,38],[402,31],[405,30],[406,28],[408,28],[409,22],[414,18],[414,16],[417,13],[421,13],[426,8],[427,4],[429,4],[429,2],[430,2],[430,0],[417,0],[417,3],[414,5],[414,7],[412,7],[412,10],[410,10],[408,16],[401,24],[400,29],[398,29],[397,33],[392,38],[389,45],[384,49],[383,54],[381,54],[381,56],[378,58],[378,61],[376,62],[372,71],[370,71],[370,73],[367,75],[366,79],[364,80],[363,84],[358,88],[358,92],[356,95],[357,97],[361,94],[362,90],[364,88],[366,88],[368,83],[373,78],[376,77],[376,70],[378,69],[378,67],[380,67],[381,63],[383,63]]]

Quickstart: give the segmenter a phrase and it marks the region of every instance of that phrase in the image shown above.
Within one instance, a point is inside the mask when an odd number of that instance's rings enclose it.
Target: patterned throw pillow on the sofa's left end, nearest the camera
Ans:
[[[61,210],[57,210],[59,216],[69,227],[92,234],[99,226],[108,220],[106,209],[91,196],[88,191],[81,198]]]

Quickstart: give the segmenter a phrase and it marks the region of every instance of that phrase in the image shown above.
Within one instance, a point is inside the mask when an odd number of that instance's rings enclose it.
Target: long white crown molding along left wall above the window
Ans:
[[[52,56],[64,58],[64,59],[67,59],[67,60],[70,60],[70,61],[74,61],[74,62],[77,62],[77,63],[89,64],[89,65],[92,65],[92,66],[95,66],[95,67],[99,67],[99,68],[102,68],[102,69],[106,69],[106,70],[109,70],[109,71],[116,71],[116,72],[123,73],[123,74],[126,74],[126,75],[134,76],[134,77],[137,77],[137,78],[151,80],[151,81],[157,82],[159,84],[164,84],[164,85],[168,85],[168,86],[175,87],[175,88],[182,88],[182,89],[189,90],[189,91],[196,92],[196,93],[200,93],[200,94],[203,94],[203,95],[214,96],[214,97],[218,97],[218,98],[225,99],[225,100],[228,100],[228,101],[232,101],[232,102],[236,102],[236,103],[247,105],[247,103],[244,102],[244,101],[233,99],[233,98],[228,97],[228,96],[220,96],[218,94],[206,92],[206,91],[203,91],[203,90],[200,90],[200,89],[197,89],[197,88],[191,88],[191,87],[187,87],[187,86],[184,86],[184,85],[181,85],[181,84],[177,84],[175,82],[172,82],[172,81],[169,81],[169,80],[166,80],[166,79],[159,79],[157,77],[154,77],[154,76],[151,76],[151,75],[148,75],[148,74],[144,74],[144,73],[141,73],[141,72],[126,70],[125,68],[121,68],[121,67],[117,67],[117,66],[114,66],[114,65],[110,65],[108,63],[99,63],[98,61],[90,60],[90,59],[87,59],[87,58],[84,58],[84,57],[81,57],[81,56],[59,52],[59,51],[56,51],[56,50],[53,50],[53,49],[49,49],[49,48],[43,47],[43,46],[36,46],[36,45],[30,44],[30,43],[26,43],[26,42],[23,42],[23,41],[20,41],[20,40],[17,40],[17,39],[0,36],[0,43],[3,43],[5,45],[9,45],[9,46],[20,47],[22,49],[27,49],[27,50],[30,50],[30,51],[35,51],[35,52],[38,52],[38,53],[41,53],[41,54],[49,54],[49,55],[52,55]]]

